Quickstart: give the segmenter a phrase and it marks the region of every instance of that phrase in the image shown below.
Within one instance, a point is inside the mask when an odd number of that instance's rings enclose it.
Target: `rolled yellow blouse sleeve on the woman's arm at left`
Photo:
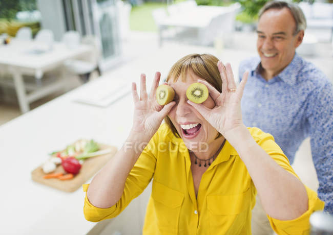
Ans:
[[[86,192],[84,215],[88,221],[99,222],[101,220],[114,218],[119,215],[124,208],[137,196],[139,196],[145,187],[151,181],[156,166],[156,148],[155,143],[158,139],[157,133],[150,140],[149,144],[144,148],[133,169],[128,175],[124,191],[119,201],[109,208],[98,208],[92,205],[87,197],[89,184],[82,185]]]

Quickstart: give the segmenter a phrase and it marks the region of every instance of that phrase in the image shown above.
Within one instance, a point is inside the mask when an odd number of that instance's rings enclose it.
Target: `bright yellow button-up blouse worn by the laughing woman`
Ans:
[[[251,135],[282,168],[297,177],[272,135],[248,128]],[[222,151],[202,175],[195,196],[188,149],[181,138],[162,124],[130,172],[120,200],[110,208],[93,206],[86,194],[84,214],[98,222],[119,215],[153,179],[143,234],[251,234],[251,210],[256,188],[243,161],[226,141]],[[286,182],[287,183],[287,182]],[[86,192],[89,184],[84,184]],[[278,234],[304,234],[309,217],[324,202],[306,187],[308,210],[290,221],[268,216]]]

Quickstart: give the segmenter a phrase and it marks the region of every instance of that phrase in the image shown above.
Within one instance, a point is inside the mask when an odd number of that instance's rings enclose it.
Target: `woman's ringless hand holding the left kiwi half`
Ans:
[[[159,105],[156,102],[156,89],[160,77],[161,74],[156,72],[149,96],[147,94],[144,74],[141,74],[140,78],[140,97],[136,90],[136,83],[132,83],[132,95],[134,101],[132,134],[144,138],[147,142],[153,137],[161,125],[163,118],[175,105],[174,101],[164,106]]]

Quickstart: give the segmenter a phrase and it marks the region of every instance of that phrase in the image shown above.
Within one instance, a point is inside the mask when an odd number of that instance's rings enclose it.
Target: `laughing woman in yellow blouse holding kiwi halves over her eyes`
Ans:
[[[169,72],[175,99],[163,107],[155,100],[159,79],[156,73],[148,95],[141,75],[140,97],[132,84],[132,131],[89,188],[84,185],[86,219],[117,216],[153,179],[143,234],[251,234],[257,192],[277,233],[308,230],[310,214],[324,203],[298,179],[272,135],[243,125],[247,73],[236,88],[230,64],[212,55],[185,56]],[[209,89],[202,104],[186,98],[194,82]]]

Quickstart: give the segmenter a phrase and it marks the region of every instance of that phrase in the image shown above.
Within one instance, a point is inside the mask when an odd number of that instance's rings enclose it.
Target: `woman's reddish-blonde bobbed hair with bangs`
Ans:
[[[218,58],[210,54],[190,54],[184,56],[171,67],[168,77],[166,77],[166,82],[170,80],[176,82],[178,79],[185,82],[187,73],[191,72],[203,80],[206,80],[214,86],[215,89],[221,92],[222,79],[217,67],[218,61]],[[170,127],[176,137],[180,137],[168,116],[164,118],[164,122]],[[220,136],[221,134],[219,133],[215,139]]]

